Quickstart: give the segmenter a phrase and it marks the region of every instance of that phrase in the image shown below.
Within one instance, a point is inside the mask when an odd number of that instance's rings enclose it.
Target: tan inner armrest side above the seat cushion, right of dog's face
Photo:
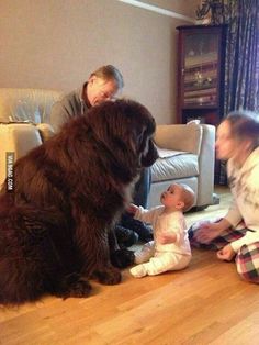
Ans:
[[[173,151],[190,152],[199,155],[203,127],[200,124],[157,125],[155,143],[157,146]]]

